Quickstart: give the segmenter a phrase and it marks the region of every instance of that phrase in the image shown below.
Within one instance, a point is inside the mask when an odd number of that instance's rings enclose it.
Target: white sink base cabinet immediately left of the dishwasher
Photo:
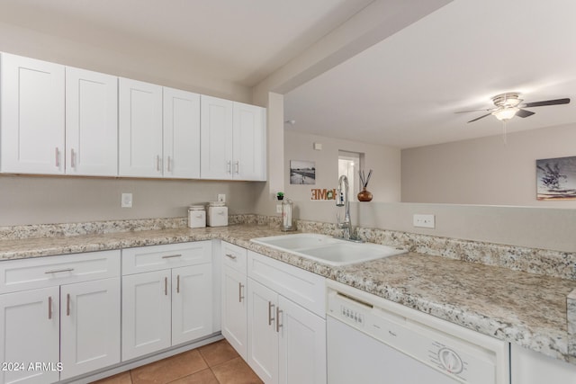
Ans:
[[[325,279],[251,251],[247,275],[248,365],[266,383],[326,383]]]

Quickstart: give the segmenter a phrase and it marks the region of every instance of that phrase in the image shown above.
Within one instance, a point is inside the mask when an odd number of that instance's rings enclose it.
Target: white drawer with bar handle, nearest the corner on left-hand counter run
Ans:
[[[211,263],[211,253],[211,240],[122,249],[122,274]]]

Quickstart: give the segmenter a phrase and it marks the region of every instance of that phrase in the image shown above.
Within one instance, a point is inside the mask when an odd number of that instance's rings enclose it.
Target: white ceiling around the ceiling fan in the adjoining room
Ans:
[[[294,129],[393,147],[497,135],[491,97],[518,91],[530,109],[508,130],[576,121],[576,2],[455,0],[285,95]],[[576,129],[576,128],[575,128]]]

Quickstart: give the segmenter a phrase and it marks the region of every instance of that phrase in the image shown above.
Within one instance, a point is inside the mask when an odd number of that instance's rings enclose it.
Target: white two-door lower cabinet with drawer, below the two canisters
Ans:
[[[122,263],[122,361],[211,335],[211,241],[130,248]]]

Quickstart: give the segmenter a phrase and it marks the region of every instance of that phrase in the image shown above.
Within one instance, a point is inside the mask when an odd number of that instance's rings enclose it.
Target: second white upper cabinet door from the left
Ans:
[[[118,174],[118,77],[66,68],[66,173]]]

